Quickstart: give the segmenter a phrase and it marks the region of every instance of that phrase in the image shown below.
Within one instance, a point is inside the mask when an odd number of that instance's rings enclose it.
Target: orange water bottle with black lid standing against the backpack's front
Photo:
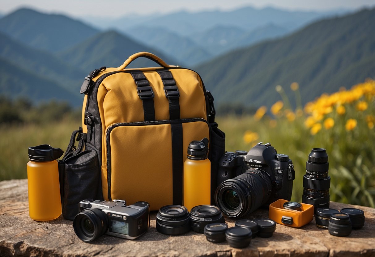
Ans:
[[[192,141],[184,163],[184,206],[190,211],[197,205],[211,203],[211,162],[208,139]]]

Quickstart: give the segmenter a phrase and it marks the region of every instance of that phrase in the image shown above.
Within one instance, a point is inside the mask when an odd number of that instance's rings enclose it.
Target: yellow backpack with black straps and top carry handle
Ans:
[[[138,57],[162,67],[125,69]],[[213,196],[217,163],[225,152],[225,134],[214,122],[213,97],[198,73],[139,52],[120,67],[91,72],[80,92],[85,94],[80,141],[90,158],[94,151],[97,155],[101,173],[98,191],[105,200],[123,199],[129,204],[146,201],[151,210],[182,205],[187,146],[204,137],[210,144]],[[73,147],[76,157],[84,155],[83,148],[78,152]],[[77,163],[76,159],[73,162]]]

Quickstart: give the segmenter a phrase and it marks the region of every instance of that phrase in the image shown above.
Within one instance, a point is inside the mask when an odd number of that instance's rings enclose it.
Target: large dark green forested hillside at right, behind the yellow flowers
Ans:
[[[280,84],[303,102],[375,77],[375,9],[324,19],[290,36],[239,49],[195,67],[216,102],[272,105]],[[293,100],[293,99],[292,99]]]

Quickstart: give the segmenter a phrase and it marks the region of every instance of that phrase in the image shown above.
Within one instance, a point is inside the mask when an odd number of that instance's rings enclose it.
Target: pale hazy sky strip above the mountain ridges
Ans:
[[[336,8],[358,9],[374,6],[374,0],[0,0],[0,12],[8,13],[22,6],[43,12],[64,13],[71,16],[112,16],[130,13],[168,13],[177,10],[232,10],[243,6],[274,6],[290,10],[329,10]]]

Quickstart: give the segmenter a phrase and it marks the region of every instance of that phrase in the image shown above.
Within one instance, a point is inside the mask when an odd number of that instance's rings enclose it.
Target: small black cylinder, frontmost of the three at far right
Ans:
[[[352,230],[351,221],[348,214],[336,212],[331,215],[328,222],[328,231],[333,236],[348,236]]]

